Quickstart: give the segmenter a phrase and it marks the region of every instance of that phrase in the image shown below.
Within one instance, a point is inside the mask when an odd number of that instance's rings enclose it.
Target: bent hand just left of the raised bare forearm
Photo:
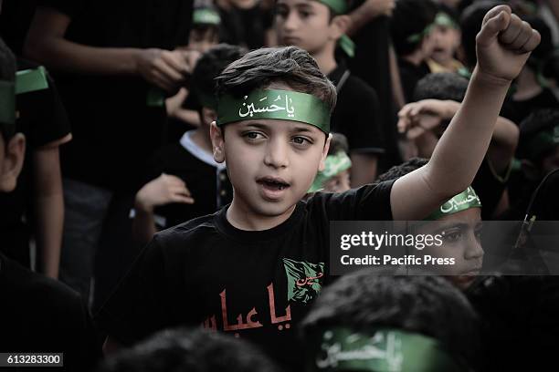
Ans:
[[[398,131],[415,140],[426,131],[436,129],[442,120],[452,119],[459,106],[459,102],[439,99],[408,103],[398,112]]]

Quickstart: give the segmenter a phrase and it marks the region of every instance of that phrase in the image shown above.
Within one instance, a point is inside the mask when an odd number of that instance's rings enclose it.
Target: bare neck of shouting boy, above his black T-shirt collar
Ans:
[[[288,211],[279,216],[256,216],[253,212],[241,206],[240,203],[236,201],[235,197],[233,197],[231,206],[227,208],[227,222],[231,223],[233,227],[239,230],[253,232],[269,230],[286,222],[293,211],[295,211],[295,207],[296,205],[293,205]]]

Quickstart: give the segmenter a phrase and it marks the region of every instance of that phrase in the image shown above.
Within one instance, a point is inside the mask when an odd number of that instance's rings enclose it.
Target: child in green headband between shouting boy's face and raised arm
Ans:
[[[351,189],[350,169],[352,160],[347,156],[348,145],[345,136],[332,133],[328,156],[324,160],[324,171],[319,171],[312,181],[309,192],[343,192]]]

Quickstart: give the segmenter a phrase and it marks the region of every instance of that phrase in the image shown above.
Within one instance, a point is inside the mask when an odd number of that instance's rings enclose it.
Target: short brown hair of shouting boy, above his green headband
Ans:
[[[320,98],[332,112],[336,88],[316,61],[300,47],[265,47],[233,62],[216,78],[217,95],[242,97],[252,90],[283,83],[298,92]]]

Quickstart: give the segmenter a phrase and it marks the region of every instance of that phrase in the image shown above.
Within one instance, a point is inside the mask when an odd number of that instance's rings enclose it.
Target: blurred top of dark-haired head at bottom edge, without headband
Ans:
[[[278,372],[243,340],[202,329],[162,331],[108,358],[100,372]]]

